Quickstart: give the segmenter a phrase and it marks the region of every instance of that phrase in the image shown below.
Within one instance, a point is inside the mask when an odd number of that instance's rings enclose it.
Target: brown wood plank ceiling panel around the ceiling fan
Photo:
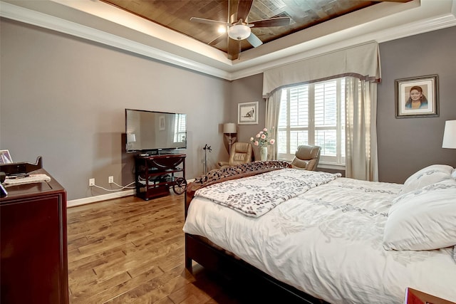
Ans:
[[[102,0],[132,14],[170,28],[173,31],[195,38],[202,43],[210,43],[214,48],[228,53],[228,38],[217,40],[217,24],[197,23],[191,17],[228,21],[228,7],[237,7],[239,1],[249,0]],[[230,3],[229,3],[230,1]],[[253,0],[248,14],[249,22],[276,17],[289,17],[288,26],[252,27],[263,43],[274,41],[283,36],[302,31],[318,23],[335,19],[353,11],[365,9],[382,1],[408,2],[412,0]],[[226,28],[226,26],[225,26]],[[226,36],[226,33],[224,34]],[[240,51],[253,46],[246,40],[241,41]],[[230,58],[230,56],[228,56]],[[235,59],[235,58],[230,58]]]

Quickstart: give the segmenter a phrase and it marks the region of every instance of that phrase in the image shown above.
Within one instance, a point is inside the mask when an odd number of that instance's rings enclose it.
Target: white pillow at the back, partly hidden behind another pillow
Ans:
[[[405,180],[399,194],[405,194],[410,191],[421,189],[428,184],[450,179],[452,177],[452,171],[453,167],[448,166],[447,164],[431,164],[410,175],[410,177]]]

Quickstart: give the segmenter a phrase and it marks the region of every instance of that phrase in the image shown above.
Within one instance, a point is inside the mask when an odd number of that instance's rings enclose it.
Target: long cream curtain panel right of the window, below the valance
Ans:
[[[377,83],[346,78],[346,177],[378,181]]]

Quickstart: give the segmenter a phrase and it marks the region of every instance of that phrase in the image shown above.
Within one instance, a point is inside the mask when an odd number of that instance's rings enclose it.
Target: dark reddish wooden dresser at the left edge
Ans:
[[[47,174],[38,169],[31,174]],[[66,191],[51,177],[0,199],[1,303],[68,303]]]

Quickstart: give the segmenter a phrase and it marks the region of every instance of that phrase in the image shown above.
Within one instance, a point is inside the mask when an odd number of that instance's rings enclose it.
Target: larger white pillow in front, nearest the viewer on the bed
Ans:
[[[393,200],[383,233],[386,250],[456,245],[456,181],[446,179]]]

